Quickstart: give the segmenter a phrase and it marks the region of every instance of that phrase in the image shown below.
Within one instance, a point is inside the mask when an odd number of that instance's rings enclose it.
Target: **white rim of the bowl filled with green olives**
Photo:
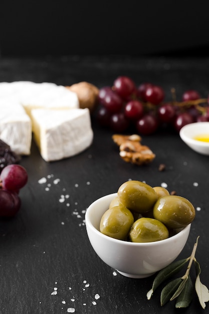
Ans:
[[[167,238],[167,239],[164,239],[164,240],[160,240],[160,241],[154,241],[154,242],[145,242],[145,243],[140,243],[140,242],[130,242],[130,241],[125,241],[125,240],[118,240],[118,239],[115,239],[115,238],[111,238],[103,233],[101,233],[99,230],[97,230],[97,228],[95,228],[91,222],[91,219],[90,219],[90,211],[91,211],[91,208],[93,206],[96,205],[96,203],[100,203],[102,202],[104,199],[107,199],[108,197],[111,199],[111,197],[113,198],[114,196],[117,196],[117,193],[112,193],[112,194],[107,194],[97,200],[95,200],[93,203],[91,203],[89,205],[89,207],[87,208],[86,210],[86,214],[85,214],[85,224],[86,224],[86,228],[90,228],[94,233],[96,233],[99,237],[103,238],[103,239],[106,239],[107,241],[111,241],[111,242],[115,242],[115,243],[118,243],[118,244],[122,244],[122,245],[131,245],[131,246],[159,246],[159,245],[163,245],[163,244],[168,244],[169,242],[172,242],[172,241],[178,241],[178,239],[182,236],[182,234],[185,234],[185,233],[189,233],[190,231],[190,227],[191,227],[191,223],[188,224],[187,226],[185,226],[182,230],[180,230],[178,233],[176,233],[175,235]],[[90,210],[89,210],[90,208]],[[87,231],[88,233],[88,231]]]

